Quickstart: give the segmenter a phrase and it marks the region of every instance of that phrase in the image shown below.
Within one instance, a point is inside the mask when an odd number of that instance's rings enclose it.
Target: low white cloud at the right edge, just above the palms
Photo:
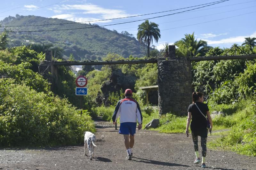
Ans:
[[[211,40],[205,40],[208,45],[212,44],[234,44],[234,43],[243,43],[245,37],[256,37],[256,32],[254,32],[252,35],[243,35],[243,36],[236,36],[236,37],[230,37],[225,38],[217,41],[211,41]]]

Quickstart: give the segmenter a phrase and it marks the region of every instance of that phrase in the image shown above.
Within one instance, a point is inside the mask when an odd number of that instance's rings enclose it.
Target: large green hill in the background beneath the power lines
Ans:
[[[7,17],[0,21],[2,26],[25,26],[42,24],[70,23],[72,21],[64,19],[52,19],[38,16],[20,16]],[[32,31],[32,30],[57,30],[73,29],[82,27],[92,27],[91,24],[60,24],[32,27],[8,27],[12,31]],[[3,27],[1,28],[3,30]],[[116,53],[124,58],[132,55],[133,57],[145,56],[143,46],[132,37],[131,34],[120,34],[117,31],[108,30],[104,27],[94,27],[87,29],[76,29],[66,31],[49,32],[21,32],[9,33],[9,46],[29,45],[31,43],[53,43],[54,46],[60,46],[64,49],[64,58],[73,54],[76,60],[101,60],[109,52]]]

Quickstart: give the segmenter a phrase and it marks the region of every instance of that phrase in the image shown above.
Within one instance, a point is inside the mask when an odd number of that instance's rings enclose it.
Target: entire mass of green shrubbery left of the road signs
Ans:
[[[60,68],[66,84],[59,86],[64,93],[58,97],[60,91],[52,93],[51,84],[38,73],[44,57],[25,46],[0,50],[0,74],[7,76],[0,79],[1,147],[77,144],[83,142],[84,131],[95,131],[91,113],[84,110],[81,115],[70,103],[74,75]]]

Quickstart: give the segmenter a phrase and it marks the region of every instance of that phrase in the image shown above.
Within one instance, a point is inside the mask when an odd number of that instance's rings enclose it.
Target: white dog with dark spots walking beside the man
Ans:
[[[88,150],[89,150],[89,153],[90,153],[90,159],[91,160],[92,160],[92,157],[93,157],[94,146],[96,147],[96,145],[94,144],[95,141],[96,141],[96,136],[93,133],[84,132],[84,155],[86,155],[86,153],[85,153],[85,143],[86,143],[87,147],[88,147]]]

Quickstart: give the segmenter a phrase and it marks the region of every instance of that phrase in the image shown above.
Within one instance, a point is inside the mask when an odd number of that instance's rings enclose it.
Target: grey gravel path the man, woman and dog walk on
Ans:
[[[200,164],[193,164],[195,153],[191,135],[187,138],[185,134],[137,131],[134,157],[129,161],[125,159],[123,135],[118,134],[114,125],[100,120],[95,124],[97,147],[92,161],[84,156],[83,145],[46,149],[6,148],[0,150],[0,169],[203,169]],[[211,139],[209,136],[208,140]],[[256,157],[208,149],[206,166],[205,169],[256,169]]]

